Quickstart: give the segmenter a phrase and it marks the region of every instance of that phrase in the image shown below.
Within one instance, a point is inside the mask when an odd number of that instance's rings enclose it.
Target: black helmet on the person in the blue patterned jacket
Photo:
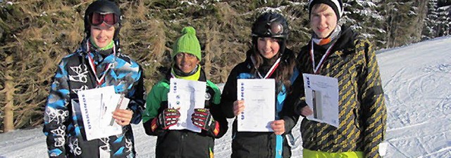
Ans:
[[[119,31],[121,30],[121,8],[119,8],[113,1],[109,0],[99,0],[94,1],[92,4],[89,4],[85,11],[85,33],[87,37],[91,36],[91,23],[89,22],[89,16],[92,13],[101,13],[108,14],[114,13],[118,17],[118,25],[115,25],[116,30],[114,31],[114,41],[118,41]]]

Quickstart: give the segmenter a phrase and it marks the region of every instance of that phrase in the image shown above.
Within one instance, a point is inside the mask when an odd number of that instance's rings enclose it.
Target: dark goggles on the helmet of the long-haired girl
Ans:
[[[253,37],[285,37],[283,25],[278,21],[268,22],[265,25],[257,26],[252,32]]]

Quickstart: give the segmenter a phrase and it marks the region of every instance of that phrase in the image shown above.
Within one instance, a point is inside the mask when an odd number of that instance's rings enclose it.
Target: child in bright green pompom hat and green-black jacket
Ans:
[[[147,96],[146,110],[142,114],[144,130],[147,135],[158,136],[156,157],[214,157],[214,139],[221,138],[228,129],[227,119],[218,106],[221,91],[206,79],[199,64],[202,56],[195,29],[184,27],[182,33],[173,46],[171,70]],[[201,133],[169,130],[180,117],[178,110],[168,108],[171,78],[206,81],[205,107],[194,109],[192,114],[192,124],[202,129]]]

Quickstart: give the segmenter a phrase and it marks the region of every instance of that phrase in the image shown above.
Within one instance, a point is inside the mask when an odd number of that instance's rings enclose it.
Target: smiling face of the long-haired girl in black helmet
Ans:
[[[264,58],[271,59],[278,53],[280,46],[278,39],[259,37],[259,39],[257,39],[257,48]]]

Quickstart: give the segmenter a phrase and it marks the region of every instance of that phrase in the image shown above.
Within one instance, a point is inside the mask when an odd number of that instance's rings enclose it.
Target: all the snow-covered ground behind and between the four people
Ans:
[[[385,157],[451,157],[451,37],[379,51],[388,109]],[[232,120],[229,120],[230,122]],[[47,157],[39,129],[0,134],[0,158]],[[134,126],[138,157],[154,157],[156,137]],[[230,157],[231,129],[216,140],[215,157]],[[302,157],[299,124],[292,157]]]

